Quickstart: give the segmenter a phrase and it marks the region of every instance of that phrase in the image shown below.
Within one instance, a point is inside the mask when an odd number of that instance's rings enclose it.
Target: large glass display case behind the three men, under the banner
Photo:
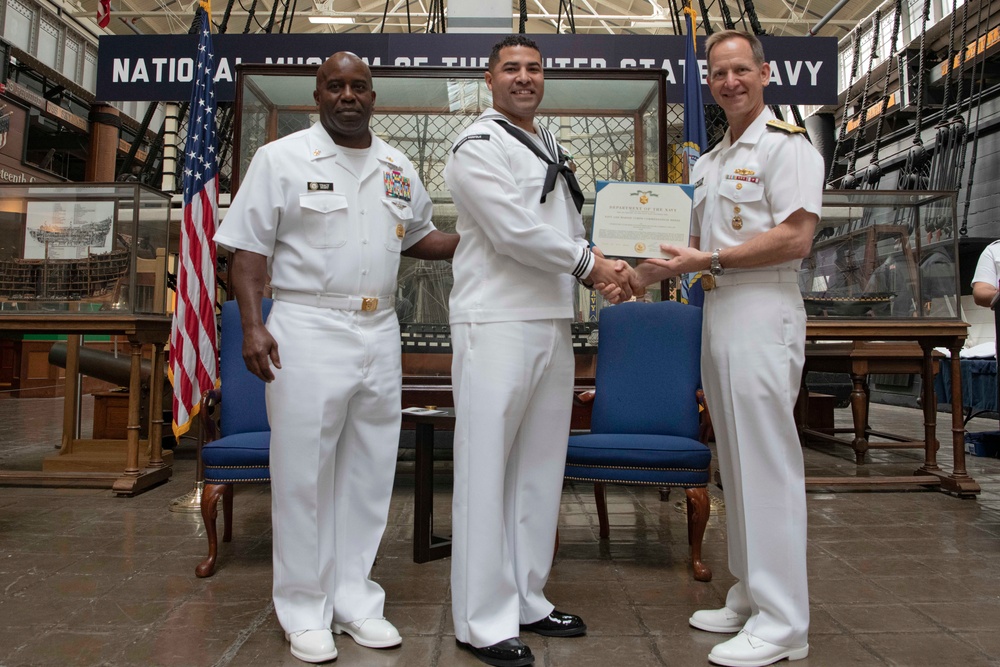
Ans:
[[[373,67],[377,94],[372,129],[405,153],[434,200],[434,222],[453,231],[456,211],[444,183],[455,138],[492,96],[481,69]],[[666,104],[661,70],[559,70],[545,72],[538,120],[573,156],[587,196],[588,232],[598,180],[666,182],[679,176],[680,105]],[[313,91],[316,66],[241,65],[237,76],[237,127],[233,191],[254,152],[317,120]],[[671,107],[667,123],[667,107]],[[404,333],[419,324],[448,322],[451,268],[442,262],[403,258],[397,312]],[[597,318],[601,299],[581,289],[577,317]]]

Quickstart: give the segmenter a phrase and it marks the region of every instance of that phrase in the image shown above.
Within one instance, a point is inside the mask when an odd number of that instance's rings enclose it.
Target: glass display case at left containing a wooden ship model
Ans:
[[[0,185],[4,312],[167,313],[170,195],[138,183]]]

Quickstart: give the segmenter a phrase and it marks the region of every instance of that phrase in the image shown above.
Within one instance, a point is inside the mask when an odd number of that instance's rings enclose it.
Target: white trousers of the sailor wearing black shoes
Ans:
[[[573,408],[569,320],[453,324],[455,637],[490,646],[552,612]]]

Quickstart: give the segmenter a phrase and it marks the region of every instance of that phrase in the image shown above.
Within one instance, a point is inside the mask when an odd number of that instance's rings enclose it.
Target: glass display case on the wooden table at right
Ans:
[[[811,320],[958,319],[953,192],[828,190],[799,287]]]

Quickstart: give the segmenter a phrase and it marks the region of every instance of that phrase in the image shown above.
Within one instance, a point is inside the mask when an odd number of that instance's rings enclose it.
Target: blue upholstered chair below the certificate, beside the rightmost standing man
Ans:
[[[609,535],[605,484],[681,487],[694,578],[708,523],[712,453],[699,442],[701,309],[674,301],[601,311],[590,433],[569,438],[566,479],[593,482],[600,535]]]

